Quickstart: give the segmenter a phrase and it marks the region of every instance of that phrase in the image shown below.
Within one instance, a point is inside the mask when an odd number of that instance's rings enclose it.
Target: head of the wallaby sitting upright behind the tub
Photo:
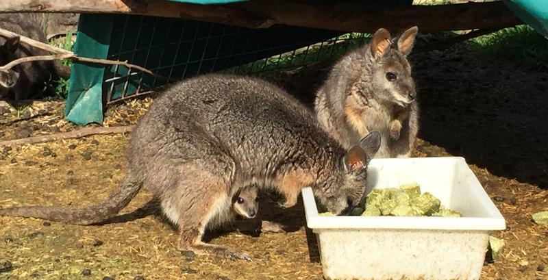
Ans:
[[[377,99],[401,107],[406,107],[416,99],[407,56],[413,48],[417,31],[417,27],[411,27],[394,40],[384,28],[373,35],[369,49],[373,62],[371,84]]]

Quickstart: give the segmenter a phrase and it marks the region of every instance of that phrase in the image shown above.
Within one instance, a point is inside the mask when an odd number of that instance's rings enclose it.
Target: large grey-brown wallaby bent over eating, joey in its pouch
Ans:
[[[179,82],[155,100],[129,139],[128,170],[109,199],[82,209],[12,207],[3,216],[26,216],[90,225],[115,216],[142,186],[178,225],[179,249],[250,259],[247,253],[202,242],[221,225],[244,186],[271,188],[292,207],[310,186],[329,212],[360,203],[366,166],[381,144],[371,131],[345,151],[284,90],[261,79],[203,75]]]

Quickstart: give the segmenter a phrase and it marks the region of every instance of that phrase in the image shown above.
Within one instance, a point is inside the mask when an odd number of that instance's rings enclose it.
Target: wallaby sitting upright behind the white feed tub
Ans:
[[[314,110],[323,129],[350,149],[369,131],[381,133],[375,157],[410,157],[419,129],[419,105],[407,55],[418,29],[395,41],[386,29],[338,61],[317,92]]]

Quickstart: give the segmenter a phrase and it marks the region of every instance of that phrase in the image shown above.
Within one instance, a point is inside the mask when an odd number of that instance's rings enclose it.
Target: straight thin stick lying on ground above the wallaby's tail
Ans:
[[[0,147],[3,146],[14,146],[18,144],[36,144],[42,142],[51,142],[71,138],[82,138],[91,135],[98,134],[112,134],[112,133],[127,133],[131,132],[134,128],[134,125],[127,125],[122,127],[86,127],[83,129],[78,129],[69,132],[55,133],[44,136],[32,136],[29,138],[22,138],[16,140],[6,140],[0,141]]]

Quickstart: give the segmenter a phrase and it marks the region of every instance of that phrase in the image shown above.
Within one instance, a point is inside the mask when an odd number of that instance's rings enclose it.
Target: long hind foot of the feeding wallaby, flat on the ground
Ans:
[[[246,261],[251,261],[251,256],[243,251],[238,251],[232,249],[229,246],[216,245],[216,244],[207,244],[197,239],[195,242],[188,243],[187,239],[184,236],[181,237],[179,241],[179,246],[177,249],[179,251],[192,251],[196,255],[214,255],[216,257],[223,257],[236,261],[237,259],[243,259]]]

